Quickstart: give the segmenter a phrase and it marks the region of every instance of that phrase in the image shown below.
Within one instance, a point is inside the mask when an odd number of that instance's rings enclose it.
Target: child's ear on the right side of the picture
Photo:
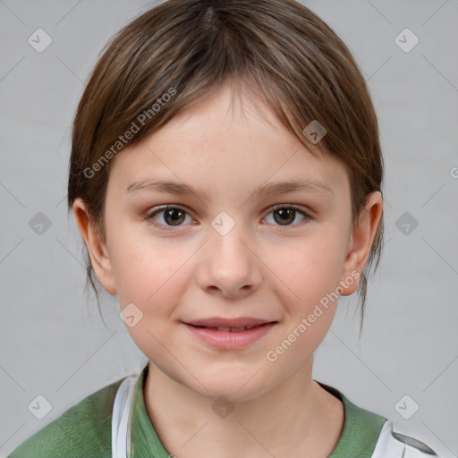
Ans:
[[[343,296],[354,293],[359,279],[369,259],[370,249],[377,233],[377,225],[383,212],[383,199],[379,191],[371,192],[366,207],[362,209],[359,221],[354,225],[348,243],[340,285]],[[358,273],[358,274],[356,274]],[[352,278],[352,282],[349,279]],[[345,281],[346,280],[346,281]],[[351,283],[351,284],[350,284]]]

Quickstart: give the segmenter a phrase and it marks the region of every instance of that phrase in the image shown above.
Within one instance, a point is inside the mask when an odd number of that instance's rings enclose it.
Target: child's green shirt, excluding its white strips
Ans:
[[[169,458],[149,420],[143,389],[148,364],[141,371],[132,403],[134,458]],[[7,458],[111,458],[111,421],[118,380],[85,397],[19,445]],[[342,435],[328,458],[370,458],[386,419],[361,409],[332,386],[318,382],[344,403]]]

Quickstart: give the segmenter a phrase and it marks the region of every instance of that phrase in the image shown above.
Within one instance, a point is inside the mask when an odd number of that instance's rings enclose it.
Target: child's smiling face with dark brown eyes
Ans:
[[[228,87],[114,158],[105,218],[93,265],[135,344],[171,382],[234,401],[311,373],[373,236],[369,223],[352,232],[344,165]],[[237,336],[186,324],[207,318],[271,324]]]

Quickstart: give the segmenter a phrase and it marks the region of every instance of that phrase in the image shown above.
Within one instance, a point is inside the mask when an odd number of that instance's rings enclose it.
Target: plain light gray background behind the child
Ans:
[[[364,331],[358,341],[356,298],[342,298],[316,353],[314,378],[441,456],[456,457],[458,1],[303,3],[360,64],[386,157],[386,246],[369,283]],[[86,301],[82,242],[65,194],[70,127],[84,81],[106,40],[151,5],[0,0],[2,456],[147,362],[117,301],[107,294],[103,300],[107,328],[95,301]],[[42,53],[28,42],[38,28],[53,40]],[[410,52],[395,42],[405,28],[420,38]],[[38,212],[51,223],[42,233],[30,227]],[[38,394],[53,406],[43,420],[28,410]],[[405,394],[411,399],[403,411],[420,406],[409,420],[395,408]]]

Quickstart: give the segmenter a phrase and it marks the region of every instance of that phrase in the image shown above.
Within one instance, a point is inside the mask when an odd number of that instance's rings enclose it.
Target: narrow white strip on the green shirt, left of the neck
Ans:
[[[123,379],[119,386],[113,404],[113,419],[111,423],[111,448],[113,458],[127,458],[127,446],[130,442],[129,424],[131,418],[131,403],[135,390],[135,382],[139,376]]]

